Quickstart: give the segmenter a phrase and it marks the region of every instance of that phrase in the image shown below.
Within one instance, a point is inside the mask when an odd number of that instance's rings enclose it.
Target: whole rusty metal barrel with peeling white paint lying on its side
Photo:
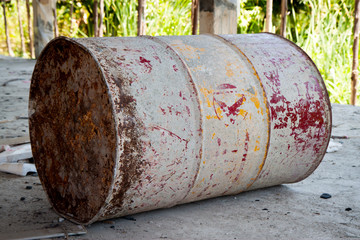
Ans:
[[[82,224],[300,181],[331,131],[315,64],[266,33],[57,38],[29,119],[50,203]]]

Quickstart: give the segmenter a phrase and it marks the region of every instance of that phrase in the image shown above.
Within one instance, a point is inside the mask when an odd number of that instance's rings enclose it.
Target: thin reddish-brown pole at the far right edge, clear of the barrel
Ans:
[[[351,72],[351,99],[352,105],[356,104],[357,82],[359,78],[359,30],[360,30],[360,0],[355,1],[355,18],[354,18],[354,45],[353,45],[353,64]]]

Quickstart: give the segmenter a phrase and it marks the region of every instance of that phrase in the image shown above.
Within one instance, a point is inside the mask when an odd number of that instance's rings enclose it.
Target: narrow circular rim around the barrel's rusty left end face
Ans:
[[[49,41],[49,43],[44,47],[44,49],[41,51],[41,53],[39,54],[39,57],[37,58],[37,61],[36,61],[36,64],[34,66],[34,71],[33,71],[33,74],[32,74],[32,77],[31,77],[31,83],[30,83],[30,94],[29,94],[29,105],[28,105],[28,111],[29,111],[29,126],[30,126],[30,122],[31,122],[31,115],[32,113],[30,113],[32,109],[32,106],[31,106],[31,101],[32,101],[32,85],[33,85],[33,78],[35,76],[35,70],[37,68],[39,68],[39,66],[42,64],[41,60],[42,58],[44,58],[45,54],[47,54],[47,50],[57,41],[66,41],[68,43],[71,43],[71,44],[74,44],[76,45],[77,47],[79,47],[80,49],[82,49],[86,54],[89,55],[89,59],[91,59],[95,65],[96,65],[96,68],[99,72],[99,79],[100,79],[100,82],[103,86],[105,86],[106,88],[106,92],[107,92],[107,98],[109,100],[109,104],[111,106],[111,121],[112,121],[112,126],[113,126],[113,129],[112,131],[115,133],[116,132],[116,118],[115,118],[115,110],[114,108],[112,107],[113,106],[113,99],[112,99],[112,95],[110,94],[110,90],[109,90],[109,86],[108,86],[108,83],[106,81],[106,77],[105,77],[105,74],[102,70],[102,67],[97,59],[97,57],[86,47],[84,46],[83,44],[77,42],[76,40],[72,39],[72,38],[68,38],[68,37],[65,37],[65,36],[60,36],[60,37],[57,37],[57,38],[54,38],[52,39],[51,41]],[[30,131],[31,132],[31,131]],[[104,209],[106,208],[107,204],[109,203],[110,201],[110,198],[111,198],[111,190],[113,189],[114,187],[114,183],[115,183],[115,174],[116,174],[116,169],[117,169],[117,157],[118,157],[118,145],[119,145],[119,138],[117,136],[117,134],[114,134],[115,135],[115,143],[114,143],[114,157],[111,159],[111,161],[114,163],[114,166],[112,167],[111,169],[111,174],[110,174],[110,177],[111,177],[111,182],[110,184],[108,185],[107,189],[105,190],[105,199],[103,201],[101,201],[102,203],[99,204],[99,208],[98,208],[98,211],[96,214],[93,214],[91,217],[89,217],[86,221],[80,221],[79,218],[77,218],[76,216],[73,216],[72,214],[65,214],[65,213],[62,213],[60,211],[58,211],[58,209],[56,208],[54,202],[51,200],[50,196],[49,196],[49,193],[48,193],[48,190],[46,189],[45,185],[44,185],[44,182],[41,181],[42,183],[42,187],[46,193],[46,197],[48,199],[48,201],[50,202],[51,206],[53,207],[54,211],[65,217],[66,219],[69,219],[70,221],[72,222],[75,222],[75,223],[78,223],[78,224],[85,224],[85,225],[88,225],[88,224],[91,224],[95,221],[97,221],[97,219],[100,218],[100,216],[102,215],[102,213],[104,212]],[[33,142],[33,137],[32,137],[32,134],[30,133],[30,141],[31,143]],[[33,144],[31,144],[31,148],[32,148],[32,152],[34,152],[34,147],[33,147]],[[35,159],[35,165],[36,165],[36,168],[38,168],[38,163]],[[39,174],[39,178],[40,178],[40,174]]]

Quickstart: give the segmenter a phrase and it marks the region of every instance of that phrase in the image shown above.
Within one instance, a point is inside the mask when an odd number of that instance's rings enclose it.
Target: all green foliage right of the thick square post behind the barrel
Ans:
[[[272,32],[279,33],[280,0],[274,0]],[[265,0],[241,0],[238,33],[264,30]],[[288,1],[286,38],[317,65],[333,103],[350,103],[353,0]],[[358,94],[358,105],[360,94]]]

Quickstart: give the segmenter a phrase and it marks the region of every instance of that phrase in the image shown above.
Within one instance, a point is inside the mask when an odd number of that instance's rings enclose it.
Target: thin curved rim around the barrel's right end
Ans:
[[[274,34],[274,33],[270,33],[270,32],[263,32],[263,33],[258,33],[258,34],[264,34],[264,35],[272,35],[272,36],[275,36],[279,39],[282,39],[288,43],[290,43],[292,46],[294,46],[300,53],[303,54],[303,56],[305,56],[310,64],[313,66],[313,68],[315,69],[315,71],[319,74],[320,76],[320,79],[318,80],[319,81],[319,84],[321,85],[321,88],[324,92],[324,99],[325,99],[325,102],[326,102],[326,105],[329,107],[329,124],[328,124],[328,132],[329,132],[329,136],[328,136],[328,139],[327,139],[327,143],[326,143],[326,146],[324,147],[324,151],[323,153],[320,154],[321,158],[319,159],[319,161],[316,163],[316,164],[312,164],[312,167],[308,170],[308,172],[306,174],[304,174],[304,176],[302,176],[301,178],[298,178],[296,179],[294,182],[291,182],[291,183],[296,183],[296,182],[300,182],[302,180],[304,180],[305,178],[307,178],[308,176],[310,176],[317,168],[318,166],[320,165],[320,163],[322,162],[322,160],[324,159],[324,156],[326,154],[326,150],[329,146],[329,143],[330,143],[330,138],[331,138],[331,132],[332,132],[332,111],[331,111],[331,103],[330,103],[330,98],[329,98],[329,93],[327,91],[327,88],[326,88],[326,85],[325,85],[325,82],[324,82],[324,79],[319,71],[319,69],[317,68],[316,64],[314,63],[314,61],[311,59],[311,57],[301,48],[299,47],[298,45],[296,45],[294,42],[290,41],[289,39],[283,37],[283,36],[280,36],[280,35],[277,35],[277,34]]]

